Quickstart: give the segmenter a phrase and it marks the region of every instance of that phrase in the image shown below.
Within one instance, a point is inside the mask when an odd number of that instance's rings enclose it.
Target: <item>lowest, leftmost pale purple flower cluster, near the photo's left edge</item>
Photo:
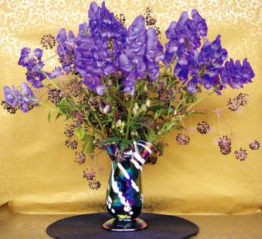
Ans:
[[[32,89],[28,87],[28,84],[23,82],[21,84],[21,91],[18,91],[16,87],[13,86],[13,91],[10,87],[4,87],[4,101],[11,106],[19,106],[21,111],[27,113],[29,111],[28,105],[33,104],[37,106],[38,99],[33,93]]]

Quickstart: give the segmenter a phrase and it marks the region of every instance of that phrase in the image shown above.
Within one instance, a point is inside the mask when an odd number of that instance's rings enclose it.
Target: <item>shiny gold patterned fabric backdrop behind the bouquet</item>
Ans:
[[[101,3],[101,1],[99,1]],[[78,24],[87,20],[90,1],[0,0],[1,88],[25,81],[25,70],[17,65],[20,49],[40,47],[40,37],[56,34],[62,27],[77,32]],[[207,20],[208,38],[222,35],[222,46],[229,56],[248,57],[256,77],[243,92],[250,95],[244,113],[229,112],[227,121],[243,148],[261,138],[261,1],[106,1],[110,11],[125,13],[127,23],[151,7],[158,18],[162,35],[182,11],[195,8]],[[164,40],[164,37],[162,38]],[[47,51],[44,59],[51,56]],[[54,64],[57,64],[54,62]],[[225,106],[229,96],[239,91],[227,89],[222,96],[211,96],[200,107]],[[3,92],[0,93],[4,98]],[[210,123],[217,128],[215,116]],[[195,116],[186,126],[204,120]],[[13,211],[26,213],[68,213],[103,211],[110,162],[105,153],[97,155],[93,165],[102,187],[91,191],[82,178],[87,165],[74,162],[74,152],[64,147],[63,122],[48,123],[42,107],[30,113],[10,115],[0,109],[0,205],[9,201]],[[223,133],[229,133],[222,123]],[[213,143],[218,129],[210,135],[191,135],[188,146],[178,146],[177,132],[166,138],[169,147],[155,165],[144,167],[145,211],[162,213],[248,213],[262,206],[261,150],[250,152],[239,162],[232,153],[220,154]],[[233,148],[237,145],[234,143]],[[88,159],[88,163],[91,160]]]

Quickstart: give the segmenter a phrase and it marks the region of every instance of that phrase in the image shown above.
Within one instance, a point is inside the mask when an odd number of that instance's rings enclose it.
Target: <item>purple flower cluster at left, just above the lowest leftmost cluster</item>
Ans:
[[[43,87],[42,80],[45,79],[45,74],[42,72],[42,67],[44,63],[41,60],[42,50],[35,48],[33,52],[30,48],[23,48],[21,50],[21,56],[18,60],[18,65],[25,67],[28,72],[26,72],[26,79],[28,82],[32,83],[35,88]]]

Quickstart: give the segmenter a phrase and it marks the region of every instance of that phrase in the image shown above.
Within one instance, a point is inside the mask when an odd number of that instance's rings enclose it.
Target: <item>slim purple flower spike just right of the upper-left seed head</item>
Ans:
[[[59,30],[57,35],[57,53],[59,60],[62,63],[63,70],[69,74],[71,71],[72,57],[76,49],[75,36],[72,30],[69,30],[68,36],[64,28]]]

